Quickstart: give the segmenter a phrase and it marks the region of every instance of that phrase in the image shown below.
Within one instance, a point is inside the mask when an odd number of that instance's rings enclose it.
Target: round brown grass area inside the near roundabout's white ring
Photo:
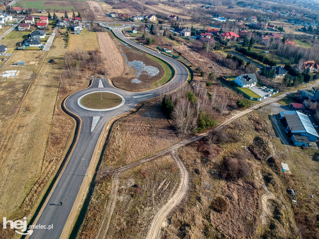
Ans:
[[[81,105],[90,109],[110,109],[122,103],[122,98],[118,95],[102,91],[85,95],[81,99]]]

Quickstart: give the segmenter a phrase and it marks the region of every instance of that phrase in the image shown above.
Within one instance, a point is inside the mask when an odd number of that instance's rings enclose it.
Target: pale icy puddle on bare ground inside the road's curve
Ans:
[[[152,77],[152,76],[156,76],[159,73],[159,69],[157,69],[156,67],[147,66],[144,64],[144,62],[137,61],[137,60],[129,62],[124,53],[122,53],[122,56],[124,57],[127,66],[133,67],[133,69],[136,72],[135,73],[136,78],[131,80],[132,83],[137,83],[137,84],[142,83],[142,81],[138,79],[139,76],[142,74],[146,74]]]

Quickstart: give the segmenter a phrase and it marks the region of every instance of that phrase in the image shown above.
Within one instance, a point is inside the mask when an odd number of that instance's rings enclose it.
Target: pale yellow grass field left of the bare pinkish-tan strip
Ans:
[[[80,35],[70,34],[69,51],[77,51],[80,47],[83,51],[99,50],[96,32],[83,29]]]

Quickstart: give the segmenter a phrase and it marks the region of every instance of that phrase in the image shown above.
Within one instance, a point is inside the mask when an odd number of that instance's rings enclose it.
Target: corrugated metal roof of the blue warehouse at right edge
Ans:
[[[283,111],[289,129],[292,133],[309,133],[319,138],[307,115],[298,111]]]

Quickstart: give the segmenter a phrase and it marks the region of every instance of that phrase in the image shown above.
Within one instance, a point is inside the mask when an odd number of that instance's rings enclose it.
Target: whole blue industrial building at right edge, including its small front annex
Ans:
[[[301,112],[282,111],[279,112],[278,118],[283,122],[286,133],[296,146],[307,148],[310,142],[319,138],[308,116]]]

